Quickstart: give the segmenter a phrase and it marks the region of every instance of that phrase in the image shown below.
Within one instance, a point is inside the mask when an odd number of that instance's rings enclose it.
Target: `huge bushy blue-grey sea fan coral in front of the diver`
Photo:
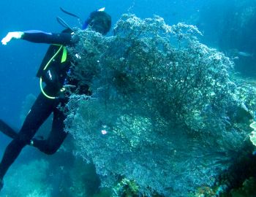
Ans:
[[[146,196],[187,196],[213,186],[244,148],[237,117],[249,106],[230,77],[233,62],[197,36],[195,26],[135,15],[110,37],[77,32],[70,77],[92,95],[69,97],[66,130],[102,187],[126,178]]]

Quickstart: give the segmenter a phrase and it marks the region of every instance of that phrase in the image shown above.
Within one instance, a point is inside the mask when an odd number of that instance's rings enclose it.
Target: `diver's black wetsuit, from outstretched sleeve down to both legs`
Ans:
[[[61,33],[61,34],[48,34],[42,31],[25,31],[23,38],[30,42],[37,43],[48,43],[48,44],[58,44],[58,45],[73,45],[72,43],[72,34]],[[42,61],[37,77],[41,77],[43,72],[42,68],[46,63],[53,57],[56,53],[56,50],[59,49],[57,45],[50,45],[48,52],[45,55],[45,58]],[[50,65],[49,68],[55,69],[54,77],[57,77],[57,83],[46,83],[44,88],[45,92],[50,96],[58,96],[60,84],[67,79],[67,71],[70,67],[69,57],[67,56],[67,61],[61,63],[62,53],[56,55],[55,61],[52,61],[53,65]],[[46,154],[53,154],[61,146],[62,142],[67,136],[67,132],[64,131],[64,119],[65,115],[59,110],[59,106],[64,106],[67,102],[67,99],[48,99],[42,93],[39,94],[37,100],[34,102],[29,114],[26,116],[22,128],[15,138],[7,146],[2,161],[0,163],[0,180],[3,179],[4,174],[6,174],[7,169],[12,165],[15,159],[20,154],[20,151],[27,144],[33,142],[33,146],[37,147],[42,152]],[[53,125],[50,131],[48,139],[39,140],[33,139],[39,127],[53,112]],[[31,141],[32,139],[32,141]],[[1,188],[0,188],[1,190]]]

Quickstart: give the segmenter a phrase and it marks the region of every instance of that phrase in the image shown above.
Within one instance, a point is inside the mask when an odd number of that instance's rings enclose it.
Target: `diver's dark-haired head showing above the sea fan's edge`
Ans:
[[[111,17],[106,12],[104,12],[104,9],[91,12],[89,18],[87,18],[83,24],[83,29],[86,29],[88,26],[90,26],[94,31],[105,35],[108,33],[108,31],[110,31]]]

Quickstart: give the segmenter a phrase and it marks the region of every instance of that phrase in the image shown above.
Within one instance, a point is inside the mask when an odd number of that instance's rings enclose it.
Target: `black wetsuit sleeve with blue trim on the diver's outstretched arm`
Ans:
[[[24,31],[21,39],[25,39],[29,42],[46,43],[46,44],[58,44],[58,45],[72,45],[72,34],[60,33],[53,34],[44,31]]]

